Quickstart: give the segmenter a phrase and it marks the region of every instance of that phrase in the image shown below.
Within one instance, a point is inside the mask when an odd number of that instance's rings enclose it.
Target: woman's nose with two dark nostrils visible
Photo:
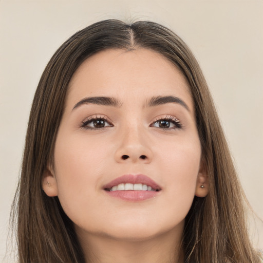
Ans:
[[[118,137],[119,143],[115,152],[115,160],[119,163],[150,163],[153,159],[152,149],[147,145],[147,136],[142,129],[127,128]]]

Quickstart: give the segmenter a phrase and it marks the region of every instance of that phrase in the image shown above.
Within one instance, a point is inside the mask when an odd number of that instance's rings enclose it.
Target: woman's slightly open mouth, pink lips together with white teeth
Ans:
[[[146,175],[123,175],[103,186],[110,196],[128,201],[156,197],[161,187]]]

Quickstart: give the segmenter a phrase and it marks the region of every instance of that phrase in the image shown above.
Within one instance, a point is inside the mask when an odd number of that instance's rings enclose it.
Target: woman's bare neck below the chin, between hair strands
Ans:
[[[92,263],[182,263],[183,228],[144,239],[116,239],[87,234],[76,229],[86,262]]]

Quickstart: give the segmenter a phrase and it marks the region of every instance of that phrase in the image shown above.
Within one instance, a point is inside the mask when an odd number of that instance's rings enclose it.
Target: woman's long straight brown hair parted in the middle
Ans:
[[[108,48],[146,48],[175,64],[189,83],[209,194],[195,197],[185,218],[185,262],[259,263],[246,228],[245,197],[208,86],[194,55],[171,30],[154,22],[95,23],[55,52],[37,86],[25,143],[20,184],[13,202],[20,262],[85,262],[71,220],[57,197],[41,186],[62,118],[69,81],[92,54]],[[15,219],[13,219],[15,221]]]

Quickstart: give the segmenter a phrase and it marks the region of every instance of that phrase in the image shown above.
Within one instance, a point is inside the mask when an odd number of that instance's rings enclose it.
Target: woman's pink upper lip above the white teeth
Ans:
[[[103,186],[103,189],[105,190],[111,189],[111,187],[118,185],[120,183],[133,183],[133,184],[141,183],[151,186],[152,189],[154,190],[158,190],[158,191],[161,190],[160,185],[158,185],[153,179],[143,174],[137,174],[137,175],[128,174],[128,175],[120,176],[110,181],[109,183],[105,184]]]

